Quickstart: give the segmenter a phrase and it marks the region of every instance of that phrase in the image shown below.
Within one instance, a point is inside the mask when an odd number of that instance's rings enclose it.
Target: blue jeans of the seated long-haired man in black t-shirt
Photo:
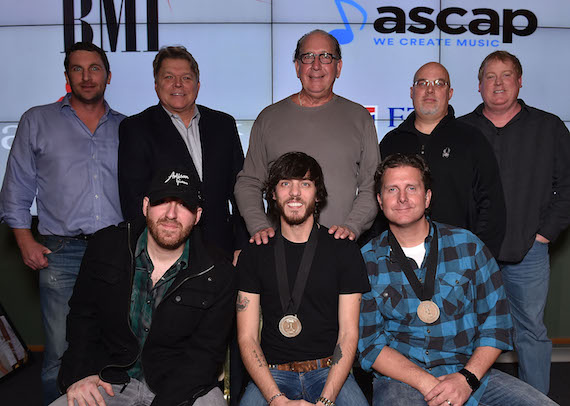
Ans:
[[[309,372],[291,372],[270,369],[279,390],[290,400],[304,399],[315,403],[321,396],[330,368],[320,368]],[[358,387],[352,374],[344,382],[335,403],[337,406],[368,406],[368,401]],[[257,385],[251,381],[245,389],[240,406],[267,406]]]

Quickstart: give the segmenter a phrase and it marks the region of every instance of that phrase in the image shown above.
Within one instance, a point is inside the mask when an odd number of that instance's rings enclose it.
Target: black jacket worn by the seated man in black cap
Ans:
[[[129,311],[143,220],[107,227],[89,242],[69,301],[60,389],[90,375],[127,383],[127,370],[141,356],[145,381],[156,394],[152,405],[192,405],[217,384],[235,314],[235,271],[194,229],[190,264],[155,309],[141,351]]]

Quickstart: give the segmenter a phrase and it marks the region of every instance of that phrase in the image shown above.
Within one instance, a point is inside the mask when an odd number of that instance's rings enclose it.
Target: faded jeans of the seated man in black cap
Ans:
[[[175,377],[173,377],[175,378]],[[107,406],[149,406],[154,400],[154,393],[148,386],[136,379],[131,379],[126,387],[123,385],[112,385],[115,396],[109,396],[105,389],[99,387],[99,392],[103,396]],[[73,402],[77,405],[77,400]],[[227,406],[222,391],[217,386],[196,399],[194,406]],[[67,395],[63,395],[50,406],[67,406]]]

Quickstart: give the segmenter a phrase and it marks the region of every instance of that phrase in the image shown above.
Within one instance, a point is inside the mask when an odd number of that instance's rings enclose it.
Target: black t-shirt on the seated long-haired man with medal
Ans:
[[[270,364],[332,355],[338,339],[338,295],[370,290],[364,260],[356,243],[336,240],[323,226],[318,232],[315,257],[297,312],[303,326],[297,337],[287,338],[279,332],[279,321],[285,314],[277,288],[275,239],[271,239],[267,245],[250,244],[239,257],[239,290],[260,295],[263,315],[261,348]],[[291,289],[304,245],[285,239],[287,276]],[[291,260],[291,256],[296,258]],[[293,261],[295,276],[292,277],[290,268]]]

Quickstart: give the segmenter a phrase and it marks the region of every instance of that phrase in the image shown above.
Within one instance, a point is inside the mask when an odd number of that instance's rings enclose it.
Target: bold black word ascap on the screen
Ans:
[[[374,21],[374,29],[381,34],[403,34],[406,32],[406,14],[404,10],[399,7],[378,7],[378,13],[381,15]],[[429,34],[435,27],[444,33],[450,35],[459,35],[471,32],[475,35],[500,35],[500,18],[499,13],[490,8],[476,8],[471,12],[473,16],[485,16],[486,18],[475,18],[469,21],[468,28],[463,25],[450,25],[448,18],[452,14],[464,16],[467,10],[459,7],[449,7],[441,10],[435,21],[428,16],[431,16],[435,10],[429,7],[414,7],[410,10],[409,17],[413,23],[408,27],[408,31],[414,34]],[[382,16],[383,14],[392,14],[391,16]],[[516,26],[514,20],[516,17],[521,17],[520,20],[525,20],[526,24],[521,25],[518,23]],[[465,24],[464,22],[463,24]],[[538,27],[538,20],[536,15],[529,10],[503,10],[503,42],[513,42],[513,34],[521,37],[531,35]]]

